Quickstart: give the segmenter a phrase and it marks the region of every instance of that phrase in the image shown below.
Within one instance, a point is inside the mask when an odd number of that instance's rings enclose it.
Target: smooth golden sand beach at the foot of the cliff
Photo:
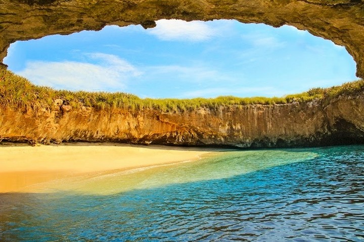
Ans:
[[[0,193],[32,192],[32,185],[63,177],[198,159],[208,149],[114,143],[0,146]]]

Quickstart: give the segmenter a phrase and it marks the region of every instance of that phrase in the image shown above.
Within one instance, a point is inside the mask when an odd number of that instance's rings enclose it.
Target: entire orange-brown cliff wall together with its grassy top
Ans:
[[[364,143],[364,81],[285,97],[54,90],[0,69],[0,142],[303,147]]]

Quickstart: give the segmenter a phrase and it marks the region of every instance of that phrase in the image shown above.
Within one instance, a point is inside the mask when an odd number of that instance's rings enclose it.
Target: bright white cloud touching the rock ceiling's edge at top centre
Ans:
[[[208,40],[217,34],[216,30],[202,21],[186,22],[183,20],[158,20],[157,26],[148,29],[148,33],[161,40],[187,40],[200,42]]]

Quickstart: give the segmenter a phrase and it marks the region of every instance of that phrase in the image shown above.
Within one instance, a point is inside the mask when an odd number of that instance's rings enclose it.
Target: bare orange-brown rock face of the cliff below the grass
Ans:
[[[153,109],[0,108],[0,140],[186,146],[302,147],[364,143],[364,93],[330,103],[245,105],[184,112]]]

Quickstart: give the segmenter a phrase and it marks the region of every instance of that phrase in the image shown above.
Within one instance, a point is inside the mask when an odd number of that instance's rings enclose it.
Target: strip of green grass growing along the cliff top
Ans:
[[[185,111],[199,107],[218,108],[229,105],[247,104],[285,104],[292,102],[308,102],[314,98],[331,100],[341,94],[356,94],[364,91],[364,81],[344,83],[341,86],[331,88],[312,88],[307,92],[287,95],[285,97],[234,97],[219,96],[216,98],[192,98],[192,99],[151,99],[116,92],[85,92],[55,90],[50,87],[36,86],[27,79],[0,68],[0,105],[24,108],[47,108],[55,99],[63,99],[64,103],[74,107],[90,106],[98,109],[120,107],[131,110],[144,108],[158,109],[162,111]]]

